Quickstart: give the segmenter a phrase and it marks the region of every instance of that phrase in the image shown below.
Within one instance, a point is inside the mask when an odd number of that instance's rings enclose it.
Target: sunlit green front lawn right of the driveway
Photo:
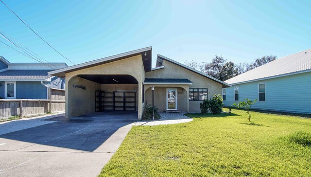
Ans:
[[[311,119],[251,114],[134,126],[99,176],[311,176]]]

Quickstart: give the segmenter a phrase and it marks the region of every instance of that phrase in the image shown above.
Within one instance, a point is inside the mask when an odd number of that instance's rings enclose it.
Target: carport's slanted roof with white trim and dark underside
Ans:
[[[49,74],[53,75],[53,76],[57,76],[57,77],[65,77],[65,74],[67,72],[82,70],[82,69],[90,68],[90,67],[93,67],[93,66],[97,66],[97,65],[101,65],[101,64],[105,64],[105,63],[110,63],[110,62],[113,62],[113,61],[118,61],[118,60],[121,60],[121,59],[124,59],[124,58],[136,56],[136,55],[139,55],[139,54],[144,56],[144,57],[142,57],[142,61],[143,61],[143,64],[144,64],[145,71],[150,71],[151,70],[152,47],[146,47],[146,48],[138,49],[138,50],[135,50],[135,51],[130,51],[130,52],[126,52],[126,53],[120,53],[120,54],[117,54],[117,55],[112,55],[112,56],[108,56],[108,57],[105,57],[105,58],[101,58],[101,59],[97,59],[97,60],[81,63],[81,64],[78,64],[78,65],[73,65],[73,66],[70,66],[68,68],[63,68],[63,69],[51,71],[51,72],[49,72]]]

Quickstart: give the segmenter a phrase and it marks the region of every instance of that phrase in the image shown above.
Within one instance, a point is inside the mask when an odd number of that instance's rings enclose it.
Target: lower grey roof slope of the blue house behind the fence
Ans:
[[[40,79],[45,80],[52,76],[48,70],[7,70],[0,72],[0,79]]]

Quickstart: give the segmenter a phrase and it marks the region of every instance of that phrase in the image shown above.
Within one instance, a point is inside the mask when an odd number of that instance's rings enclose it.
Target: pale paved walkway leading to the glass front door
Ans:
[[[185,116],[181,113],[167,113],[159,112],[161,119],[155,121],[138,121],[135,125],[167,125],[167,124],[180,124],[193,121],[192,118]]]

